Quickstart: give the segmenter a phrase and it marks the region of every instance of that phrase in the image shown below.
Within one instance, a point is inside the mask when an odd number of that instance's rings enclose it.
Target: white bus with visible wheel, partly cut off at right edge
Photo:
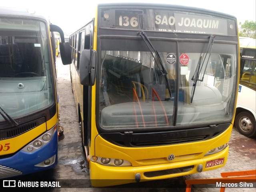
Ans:
[[[256,40],[239,38],[240,79],[235,126],[247,137],[256,136]]]

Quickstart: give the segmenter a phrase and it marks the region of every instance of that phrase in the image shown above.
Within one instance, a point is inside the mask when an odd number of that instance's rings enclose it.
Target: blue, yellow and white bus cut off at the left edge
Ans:
[[[58,95],[53,32],[71,63],[62,30],[34,10],[0,8],[0,178],[58,162]]]

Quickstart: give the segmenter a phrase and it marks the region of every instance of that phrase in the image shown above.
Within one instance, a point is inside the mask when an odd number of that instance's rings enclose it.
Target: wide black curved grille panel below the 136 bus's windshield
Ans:
[[[110,143],[124,147],[162,146],[206,141],[217,137],[227,130],[230,125],[230,123],[223,123],[206,127],[176,130],[100,133],[100,137]]]

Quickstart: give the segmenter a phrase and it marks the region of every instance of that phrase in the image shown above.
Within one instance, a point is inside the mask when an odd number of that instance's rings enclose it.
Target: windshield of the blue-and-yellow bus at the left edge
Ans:
[[[18,117],[50,105],[54,88],[46,24],[1,18],[0,26],[0,107]]]

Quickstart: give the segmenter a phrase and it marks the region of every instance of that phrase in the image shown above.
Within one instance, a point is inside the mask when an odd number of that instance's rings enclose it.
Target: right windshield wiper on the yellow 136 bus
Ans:
[[[194,89],[193,89],[193,92],[192,92],[192,95],[191,95],[191,98],[190,98],[190,103],[192,103],[193,98],[194,98],[194,93],[195,93],[195,90],[196,90],[196,83],[197,83],[197,81],[204,81],[204,74],[205,74],[205,72],[206,72],[206,68],[207,68],[207,65],[208,65],[209,60],[210,60],[210,56],[211,56],[211,53],[212,53],[212,45],[213,45],[213,42],[214,42],[214,38],[215,38],[215,37],[216,37],[216,36],[214,36],[214,35],[211,35],[211,36],[210,36],[210,40],[209,40],[209,43],[208,43],[207,51],[206,51],[206,53],[203,55],[203,58],[202,58],[202,56],[200,56],[199,61],[198,61],[198,64],[197,64],[196,74],[194,74],[193,77],[192,77],[192,79],[191,79],[192,81],[194,81],[194,82],[193,82],[193,87],[194,87]],[[209,56],[208,56],[208,59],[207,59],[207,62],[206,62],[206,66],[205,66],[205,69],[204,69],[204,74],[203,74],[203,76],[202,76],[202,79],[199,79],[199,75],[200,75],[200,73],[201,73],[201,71],[202,71],[202,68],[203,68],[203,66],[204,66],[204,61],[205,61],[205,59],[206,59],[206,57],[207,57],[208,52],[210,52],[210,53],[209,53]],[[200,67],[201,67],[201,68],[200,68]]]

